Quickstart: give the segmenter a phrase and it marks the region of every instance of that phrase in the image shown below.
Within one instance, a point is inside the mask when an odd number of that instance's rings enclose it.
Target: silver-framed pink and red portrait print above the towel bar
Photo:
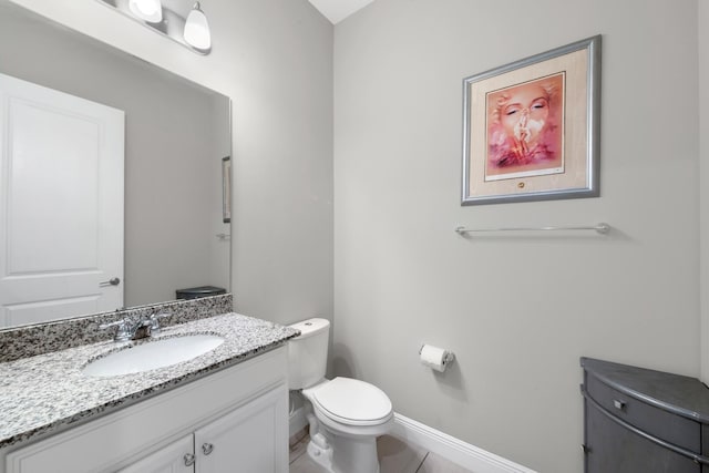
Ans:
[[[600,35],[463,80],[462,205],[597,197]]]

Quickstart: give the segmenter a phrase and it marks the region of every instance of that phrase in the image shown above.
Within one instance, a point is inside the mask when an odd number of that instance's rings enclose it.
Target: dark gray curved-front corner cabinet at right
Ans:
[[[582,358],[586,473],[709,472],[709,389],[695,378]]]

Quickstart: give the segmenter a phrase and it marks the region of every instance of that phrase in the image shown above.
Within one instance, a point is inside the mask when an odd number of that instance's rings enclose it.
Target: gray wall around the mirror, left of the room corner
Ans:
[[[210,1],[199,56],[95,0],[11,0],[233,101],[232,291],[279,322],[332,313],[332,25],[306,0]]]

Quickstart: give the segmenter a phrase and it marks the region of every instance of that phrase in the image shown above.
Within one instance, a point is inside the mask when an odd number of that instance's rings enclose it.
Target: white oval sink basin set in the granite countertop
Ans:
[[[224,339],[215,335],[199,333],[163,338],[114,351],[91,361],[84,367],[83,372],[90,377],[140,373],[189,361],[214,350],[222,343],[224,343]]]

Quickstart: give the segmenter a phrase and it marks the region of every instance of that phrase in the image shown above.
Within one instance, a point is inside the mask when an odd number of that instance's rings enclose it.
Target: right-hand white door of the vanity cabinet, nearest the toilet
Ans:
[[[196,473],[286,473],[285,384],[195,432]]]

